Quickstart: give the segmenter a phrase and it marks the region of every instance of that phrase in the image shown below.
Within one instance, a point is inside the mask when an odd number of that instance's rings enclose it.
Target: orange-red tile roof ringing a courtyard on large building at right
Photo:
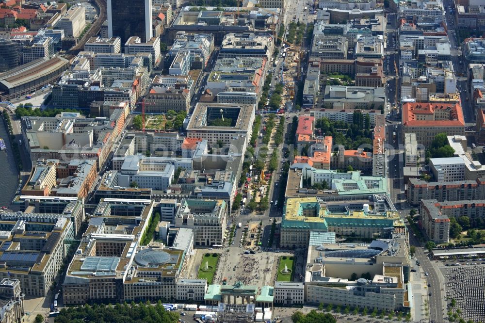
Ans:
[[[435,115],[435,111],[447,111],[447,120],[417,120],[419,115]],[[403,125],[406,127],[464,127],[465,119],[459,104],[449,103],[405,103],[403,105]]]

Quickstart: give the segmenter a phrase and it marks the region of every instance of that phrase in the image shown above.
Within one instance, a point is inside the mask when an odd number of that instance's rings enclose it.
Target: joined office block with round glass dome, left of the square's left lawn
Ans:
[[[186,242],[191,237],[177,236],[172,246],[141,245],[153,207],[152,200],[99,202],[80,251],[68,266],[63,282],[65,304],[176,299],[178,278],[185,275],[190,258]]]

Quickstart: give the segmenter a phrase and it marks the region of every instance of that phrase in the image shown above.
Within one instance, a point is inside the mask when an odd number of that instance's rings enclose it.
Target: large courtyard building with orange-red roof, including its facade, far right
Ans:
[[[465,121],[459,104],[404,103],[403,133],[415,133],[418,144],[429,146],[438,133],[463,135]]]

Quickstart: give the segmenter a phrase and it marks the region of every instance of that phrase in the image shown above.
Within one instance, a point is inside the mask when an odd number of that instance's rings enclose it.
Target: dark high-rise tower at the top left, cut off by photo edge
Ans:
[[[129,37],[141,42],[152,38],[151,0],[108,0],[108,37],[120,37],[125,44]]]

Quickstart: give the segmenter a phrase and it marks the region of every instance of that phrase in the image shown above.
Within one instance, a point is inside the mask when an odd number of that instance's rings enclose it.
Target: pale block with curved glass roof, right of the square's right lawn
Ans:
[[[325,244],[308,248],[305,274],[305,301],[368,310],[393,312],[408,310],[408,242],[405,230],[395,229],[391,239],[374,240],[369,245]],[[388,251],[391,245],[396,249]],[[361,277],[352,279],[352,275]],[[362,275],[369,275],[362,278]]]

